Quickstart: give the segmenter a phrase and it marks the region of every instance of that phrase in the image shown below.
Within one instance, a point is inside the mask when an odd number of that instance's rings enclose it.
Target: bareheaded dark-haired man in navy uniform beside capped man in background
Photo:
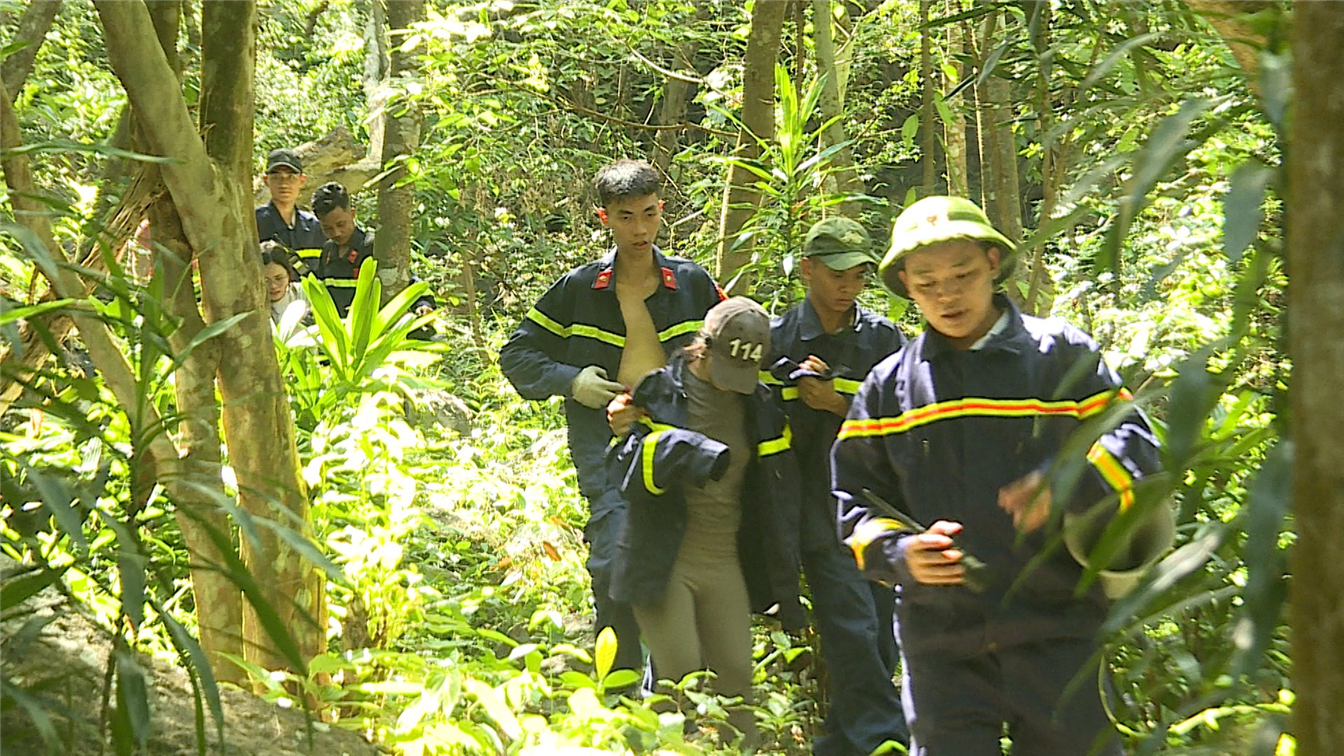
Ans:
[[[313,265],[313,274],[327,285],[336,311],[341,317],[349,312],[355,301],[355,284],[359,281],[359,266],[374,257],[374,233],[366,231],[355,222],[349,192],[339,182],[328,182],[313,192],[313,213],[321,223],[327,241]],[[415,277],[411,276],[411,281]],[[427,315],[434,309],[434,297],[426,293],[415,300],[411,312],[415,316]],[[427,334],[415,334],[427,338]]]

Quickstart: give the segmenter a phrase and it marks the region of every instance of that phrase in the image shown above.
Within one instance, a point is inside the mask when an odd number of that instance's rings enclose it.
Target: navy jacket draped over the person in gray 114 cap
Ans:
[[[640,381],[634,404],[648,417],[612,445],[612,479],[629,503],[612,574],[612,597],[648,605],[663,600],[685,533],[685,486],[720,478],[728,448],[687,430],[681,385],[685,356]],[[789,448],[789,422],[757,385],[746,400],[747,439],[755,459],[742,482],[738,561],[753,611],[777,616],[788,628],[802,627],[798,603],[798,479]]]

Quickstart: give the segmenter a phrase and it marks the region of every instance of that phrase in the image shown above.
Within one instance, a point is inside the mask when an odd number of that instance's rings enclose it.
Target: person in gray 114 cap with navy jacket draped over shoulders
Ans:
[[[712,309],[695,339],[645,375],[644,416],[607,457],[629,503],[612,596],[634,607],[660,678],[711,670],[751,698],[751,612],[802,624],[798,487],[788,421],[757,381],[770,317],[746,299]],[[728,720],[755,737],[750,712]]]

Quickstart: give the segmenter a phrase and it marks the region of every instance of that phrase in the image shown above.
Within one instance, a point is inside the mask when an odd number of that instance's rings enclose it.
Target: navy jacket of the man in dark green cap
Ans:
[[[810,300],[775,317],[770,323],[770,356],[765,365],[774,365],[781,356],[801,363],[808,355],[817,355],[831,367],[836,391],[852,402],[872,366],[906,343],[886,317],[853,309],[853,320],[837,334],[827,334]],[[762,371],[761,382],[773,389],[793,426],[793,452],[802,482],[802,547],[833,549],[839,535],[831,496],[831,444],[844,418],[808,406],[798,397],[797,381],[781,381]]]

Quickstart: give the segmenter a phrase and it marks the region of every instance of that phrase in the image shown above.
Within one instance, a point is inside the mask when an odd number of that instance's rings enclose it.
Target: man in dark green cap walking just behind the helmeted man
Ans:
[[[800,543],[812,609],[831,681],[827,733],[816,756],[866,756],[891,740],[910,739],[891,677],[896,642],[894,595],[867,581],[836,534],[831,496],[831,444],[868,370],[900,348],[890,320],[856,304],[878,266],[872,239],[857,222],[828,218],[808,233],[801,273],[808,296],[770,324],[773,389],[793,428],[801,468]]]

